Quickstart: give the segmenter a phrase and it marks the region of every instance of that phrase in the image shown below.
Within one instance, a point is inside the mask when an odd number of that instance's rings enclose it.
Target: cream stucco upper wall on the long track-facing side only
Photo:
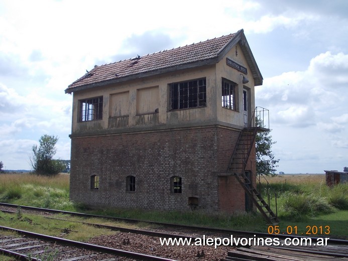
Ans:
[[[215,75],[215,65],[208,65],[75,91],[72,135],[145,131],[214,122]],[[206,79],[206,106],[169,110],[169,84],[200,78]],[[102,119],[80,122],[80,101],[98,96],[103,97]]]

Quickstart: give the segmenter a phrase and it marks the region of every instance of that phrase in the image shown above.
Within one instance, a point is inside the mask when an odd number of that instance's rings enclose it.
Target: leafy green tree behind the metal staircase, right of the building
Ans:
[[[257,120],[259,126],[262,125],[261,120]],[[262,175],[276,175],[276,168],[279,159],[275,159],[272,152],[272,145],[276,142],[272,141],[270,132],[261,132],[256,135],[256,172]]]

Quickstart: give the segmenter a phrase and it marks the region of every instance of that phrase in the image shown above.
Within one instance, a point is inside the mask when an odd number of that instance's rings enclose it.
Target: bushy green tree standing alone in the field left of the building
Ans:
[[[58,137],[45,134],[41,136],[39,140],[40,146],[33,146],[33,155],[30,159],[30,163],[34,173],[38,175],[54,176],[65,169],[64,163],[60,160],[53,160],[53,156],[57,152],[55,148],[57,142]]]

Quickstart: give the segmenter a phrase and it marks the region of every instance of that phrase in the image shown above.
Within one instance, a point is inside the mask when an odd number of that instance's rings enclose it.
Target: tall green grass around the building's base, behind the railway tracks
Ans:
[[[348,184],[328,188],[325,185],[324,175],[283,175],[267,179],[278,195],[281,232],[287,232],[287,229],[296,227],[297,234],[306,234],[308,226],[311,229],[310,232],[315,232],[313,228],[316,226],[319,230],[321,227],[323,232],[327,232],[329,227],[330,237],[347,237]],[[272,200],[274,201],[274,198]],[[260,213],[208,216],[199,211],[182,213],[137,209],[88,210],[82,205],[75,205],[69,201],[69,175],[66,174],[52,178],[30,174],[1,174],[0,201],[141,220],[268,231],[268,224]]]

